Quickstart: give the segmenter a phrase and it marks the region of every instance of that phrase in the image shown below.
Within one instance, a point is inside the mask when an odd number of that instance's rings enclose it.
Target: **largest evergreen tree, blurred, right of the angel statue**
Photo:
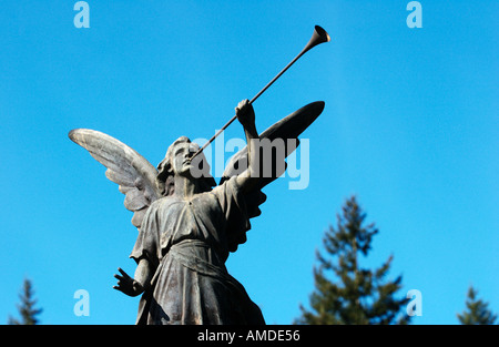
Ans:
[[[329,226],[323,238],[327,257],[316,252],[319,266],[314,266],[315,290],[310,295],[312,310],[301,305],[297,324],[407,324],[408,298],[396,298],[401,276],[385,280],[393,256],[377,269],[359,266],[359,255],[367,256],[374,223],[364,225],[366,214],[352,196],[337,215],[337,226]],[[336,262],[334,262],[336,261]],[[330,276],[334,274],[334,276]],[[329,278],[334,277],[334,282]]]

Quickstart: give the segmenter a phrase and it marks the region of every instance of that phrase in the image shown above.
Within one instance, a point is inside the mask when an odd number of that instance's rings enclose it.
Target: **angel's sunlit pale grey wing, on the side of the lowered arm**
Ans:
[[[140,228],[149,206],[161,197],[156,169],[136,151],[102,132],[74,129],[69,137],[108,167],[105,176],[125,194],[124,206],[134,213],[132,224]]]

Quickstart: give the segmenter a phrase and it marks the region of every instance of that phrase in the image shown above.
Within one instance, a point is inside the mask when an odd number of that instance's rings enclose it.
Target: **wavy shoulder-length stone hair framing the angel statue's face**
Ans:
[[[175,191],[175,184],[174,184],[174,180],[173,180],[175,174],[174,174],[173,167],[172,167],[173,157],[174,157],[173,149],[180,143],[191,143],[191,140],[186,136],[180,136],[179,139],[176,139],[169,146],[169,150],[166,151],[166,155],[161,161],[161,163],[157,165],[156,186],[163,196],[172,195]],[[194,143],[194,144],[198,147],[198,145],[196,143]],[[212,187],[216,185],[216,182],[213,178],[213,176],[210,174],[210,166],[206,162],[206,157],[204,156],[204,154],[200,153],[198,156],[203,161],[203,167],[204,167],[203,172],[204,173],[197,180],[201,180],[202,192],[210,192],[212,190]]]

